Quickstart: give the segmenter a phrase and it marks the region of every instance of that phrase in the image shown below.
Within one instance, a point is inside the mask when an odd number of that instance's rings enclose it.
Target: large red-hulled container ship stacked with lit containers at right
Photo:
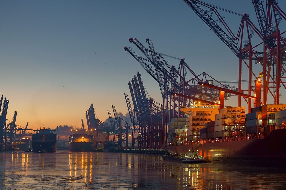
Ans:
[[[213,105],[181,108],[186,118],[168,123],[168,151],[197,150],[211,162],[286,167],[286,104],[218,109]]]

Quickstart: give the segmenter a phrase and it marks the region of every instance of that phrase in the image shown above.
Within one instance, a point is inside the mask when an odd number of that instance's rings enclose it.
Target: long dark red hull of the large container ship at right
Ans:
[[[273,130],[271,133],[265,139],[169,146],[168,151],[185,154],[188,150],[198,150],[199,155],[211,162],[286,167],[286,129]]]

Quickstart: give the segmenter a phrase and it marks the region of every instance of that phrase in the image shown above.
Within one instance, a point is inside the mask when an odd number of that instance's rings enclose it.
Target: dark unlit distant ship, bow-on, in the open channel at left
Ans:
[[[34,130],[32,134],[33,152],[56,152],[56,130],[46,129]]]

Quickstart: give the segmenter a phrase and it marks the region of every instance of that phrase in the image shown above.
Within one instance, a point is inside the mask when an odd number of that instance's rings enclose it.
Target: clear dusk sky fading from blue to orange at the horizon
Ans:
[[[251,0],[205,2],[250,13],[257,24]],[[285,9],[285,1],[278,4]],[[222,16],[237,32],[240,16]],[[219,81],[238,79],[238,58],[182,0],[1,0],[0,23],[0,94],[9,99],[7,119],[16,110],[16,124],[23,127],[27,122],[32,129],[81,127],[91,104],[102,121],[112,104],[125,115],[124,93],[130,94],[128,81],[137,72],[150,96],[162,102],[158,84],[123,50],[130,46],[139,52],[129,38],[146,47],[150,38],[155,51],[185,57],[197,74],[207,72]],[[179,65],[179,60],[166,60]],[[257,75],[262,70],[253,67]],[[246,67],[242,71],[246,80]],[[225,104],[237,106],[237,98]]]

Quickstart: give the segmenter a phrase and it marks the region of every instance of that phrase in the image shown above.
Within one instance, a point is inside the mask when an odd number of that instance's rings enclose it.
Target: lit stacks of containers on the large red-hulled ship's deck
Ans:
[[[264,138],[286,127],[286,104],[267,104],[251,111],[245,114],[245,107],[226,107],[218,114],[194,110],[188,118],[173,118],[168,123],[168,142],[174,142],[172,138],[183,143]]]

